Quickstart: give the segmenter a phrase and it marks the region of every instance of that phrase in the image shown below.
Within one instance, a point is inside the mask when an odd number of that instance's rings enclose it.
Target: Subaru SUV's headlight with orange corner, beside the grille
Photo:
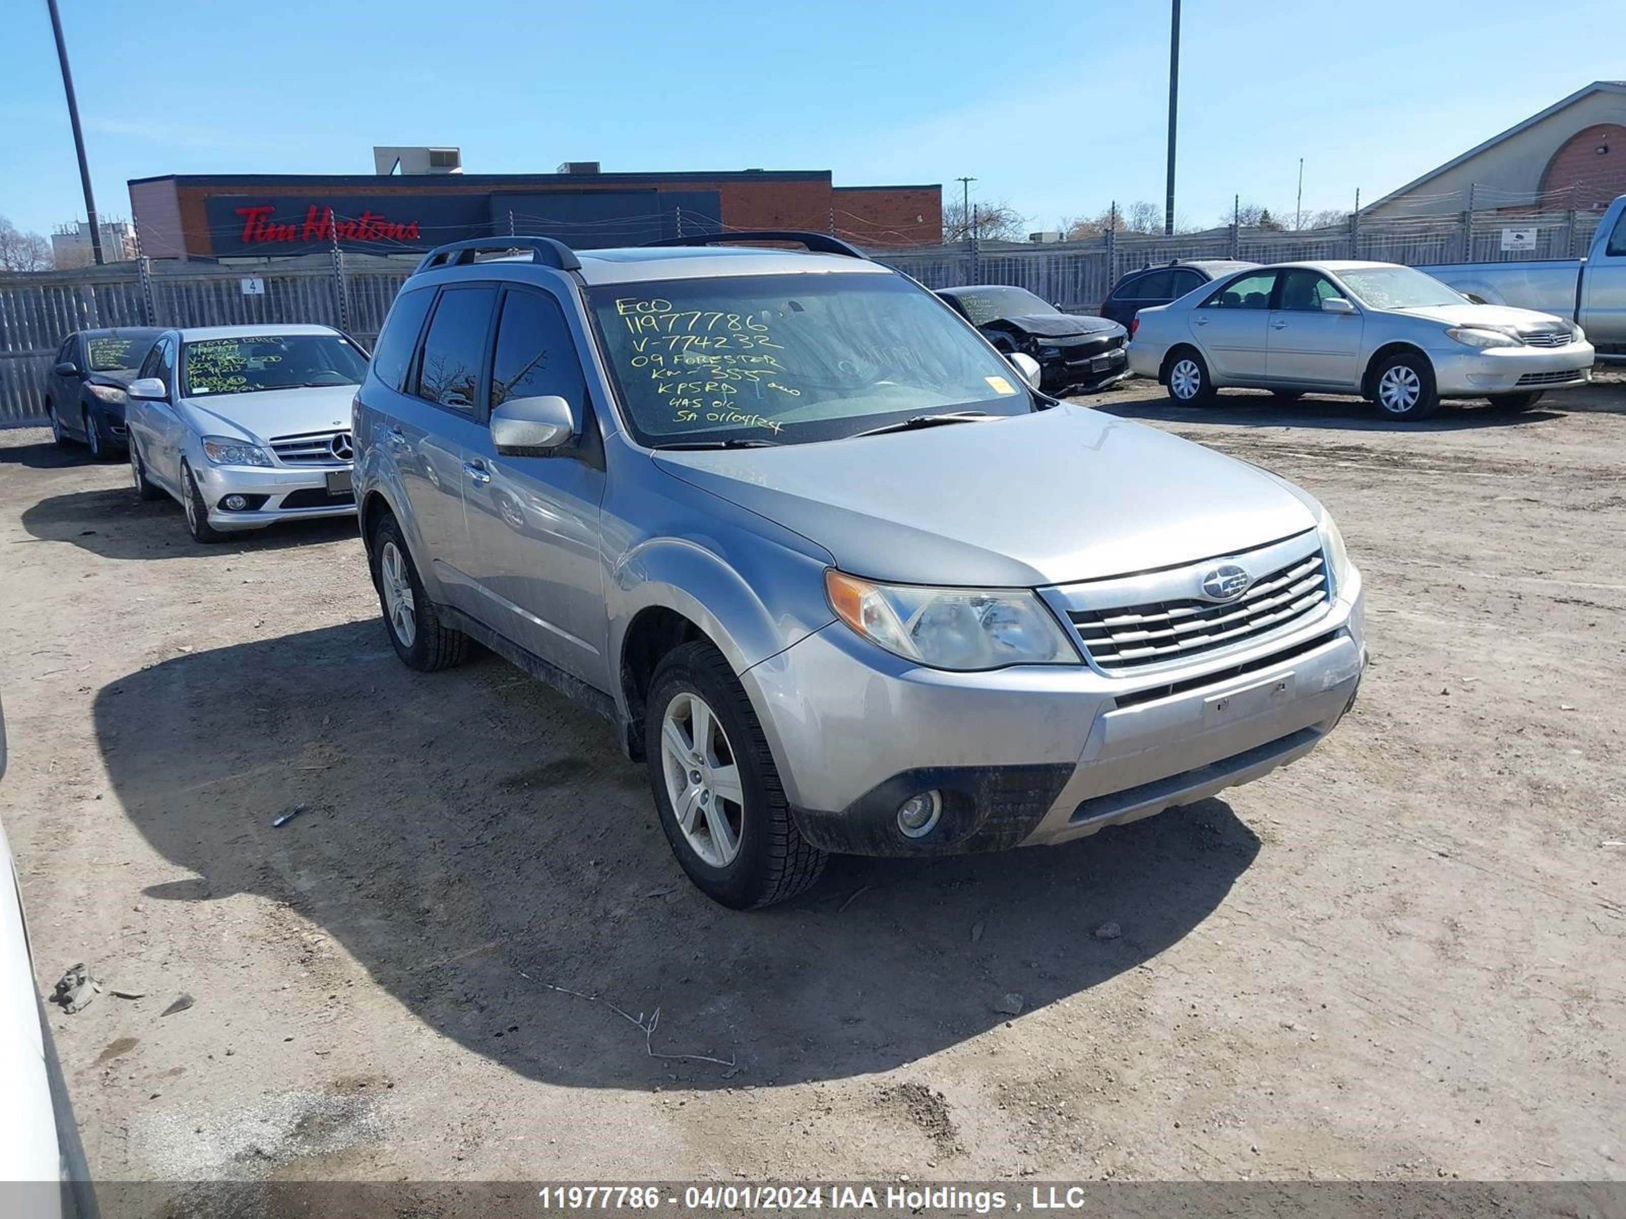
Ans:
[[[927,588],[824,572],[829,605],[872,644],[930,668],[1078,665],[1078,650],[1026,588]]]

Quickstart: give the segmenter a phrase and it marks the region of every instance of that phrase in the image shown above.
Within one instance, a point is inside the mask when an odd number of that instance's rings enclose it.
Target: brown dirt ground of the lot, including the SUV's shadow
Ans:
[[[0,434],[0,811],[42,990],[109,988],[52,1014],[93,1170],[1626,1177],[1626,377],[1421,426],[1093,401],[1333,510],[1356,710],[1221,800],[754,915],[602,720],[398,665],[350,523],[200,548]]]

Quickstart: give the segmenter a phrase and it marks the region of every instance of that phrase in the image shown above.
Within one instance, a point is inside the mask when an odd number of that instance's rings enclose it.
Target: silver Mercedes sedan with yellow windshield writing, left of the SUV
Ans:
[[[197,541],[348,517],[350,400],[367,356],[322,325],[166,330],[130,382],[130,475],[172,496]]]

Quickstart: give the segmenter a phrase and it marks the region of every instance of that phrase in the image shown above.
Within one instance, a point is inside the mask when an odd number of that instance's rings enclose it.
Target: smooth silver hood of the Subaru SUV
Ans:
[[[795,530],[855,575],[1041,587],[1259,546],[1314,528],[1272,475],[1083,406],[655,465]]]

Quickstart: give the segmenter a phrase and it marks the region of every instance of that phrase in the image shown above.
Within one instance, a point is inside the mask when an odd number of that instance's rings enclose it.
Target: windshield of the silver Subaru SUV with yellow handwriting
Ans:
[[[917,414],[1028,414],[1010,364],[899,275],[592,289],[626,423],[647,445],[834,440]]]

